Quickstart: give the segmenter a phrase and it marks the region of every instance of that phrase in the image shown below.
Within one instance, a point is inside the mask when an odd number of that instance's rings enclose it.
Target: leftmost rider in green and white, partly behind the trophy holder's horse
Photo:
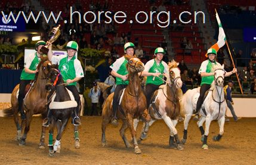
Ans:
[[[35,45],[35,53],[27,55],[24,59],[24,69],[20,75],[20,87],[18,92],[18,111],[20,112],[21,119],[26,119],[24,110],[23,110],[23,99],[25,97],[25,89],[27,84],[30,83],[31,80],[35,79],[35,74],[38,72],[36,67],[41,61],[41,52],[42,46],[46,45],[44,41],[38,41]]]

